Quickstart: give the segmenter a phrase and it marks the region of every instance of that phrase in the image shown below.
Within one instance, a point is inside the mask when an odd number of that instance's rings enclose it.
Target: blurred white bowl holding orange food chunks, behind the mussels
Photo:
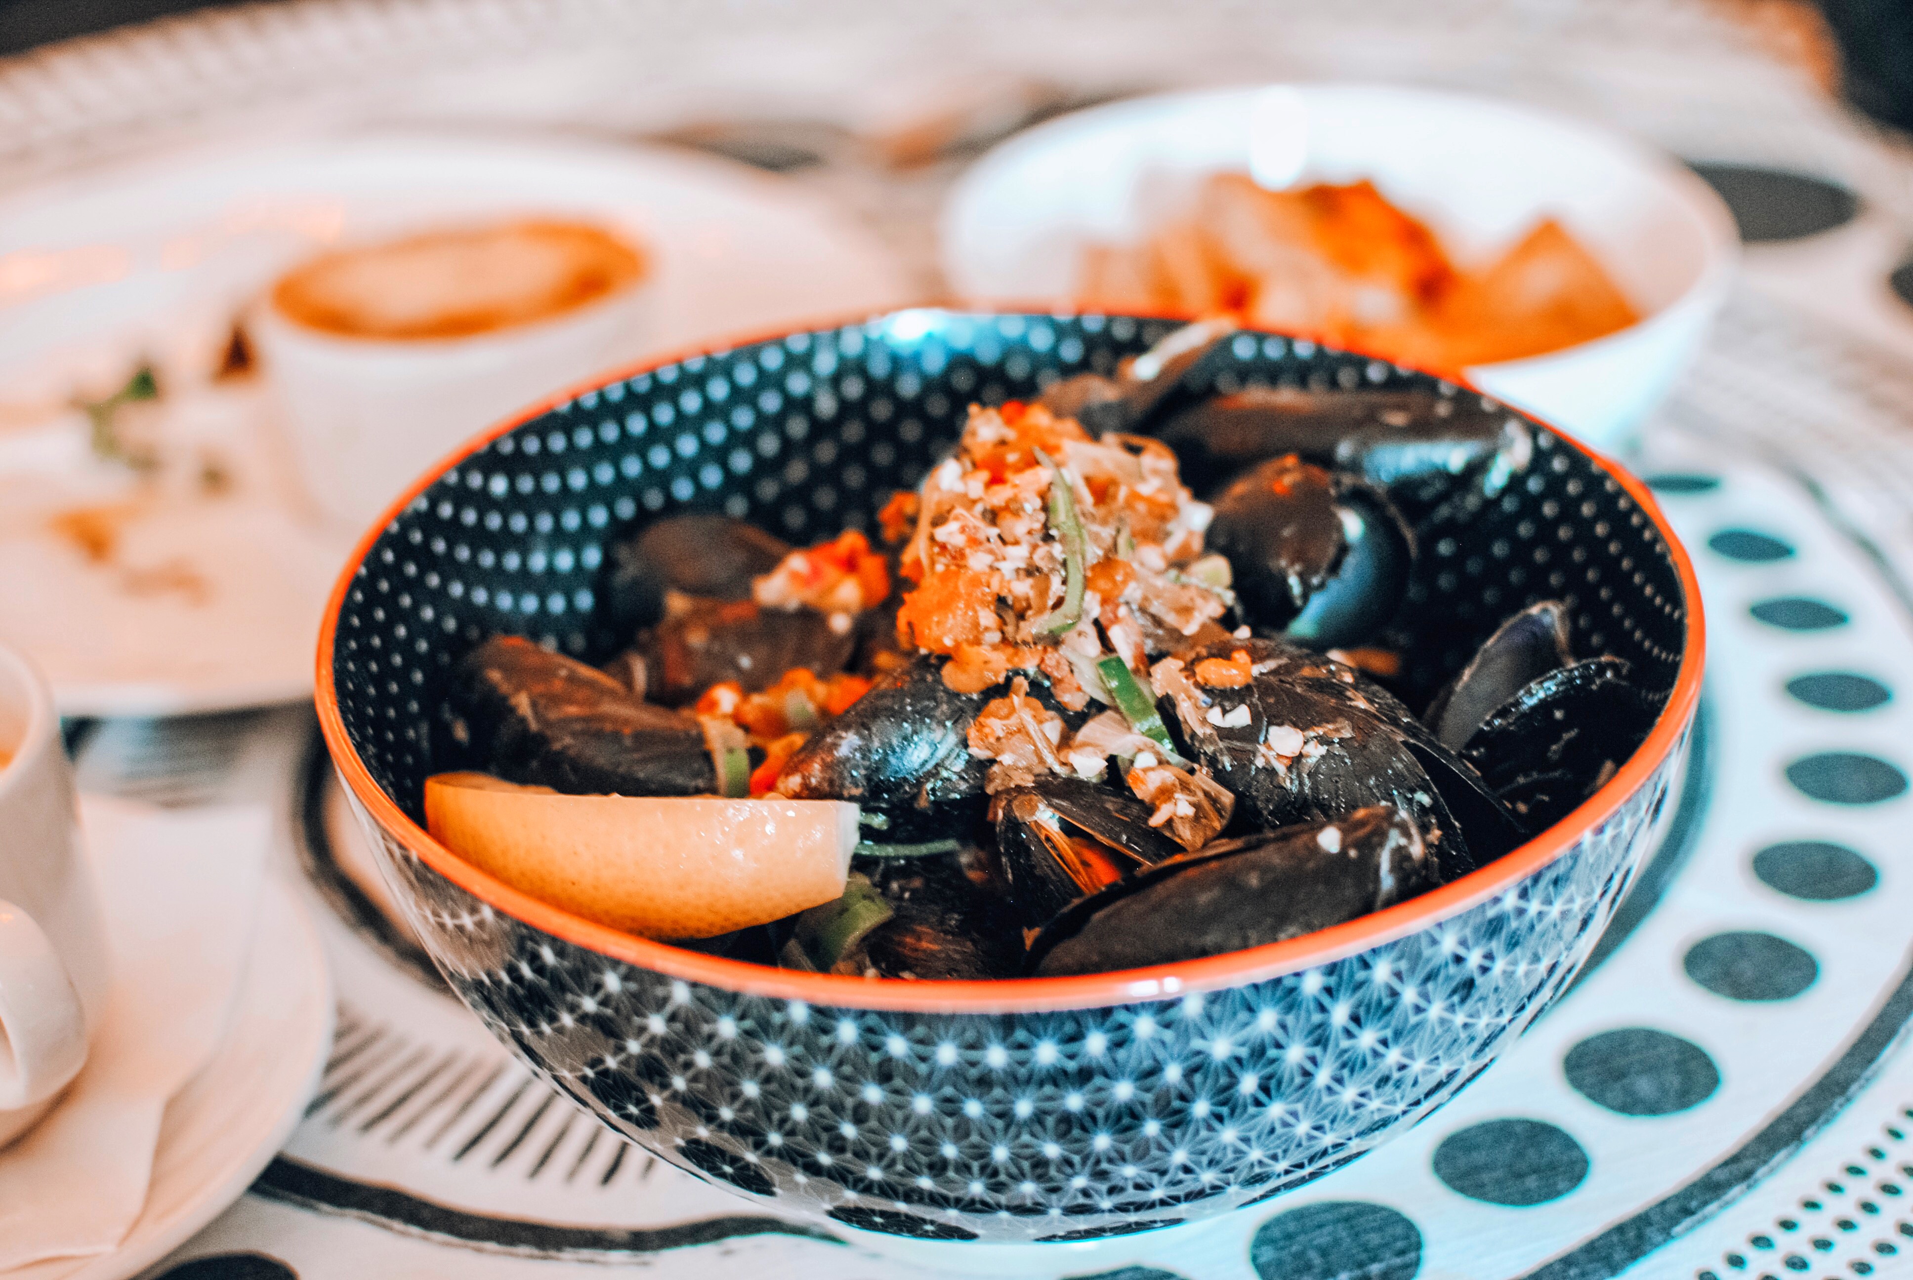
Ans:
[[[1270,186],[1370,178],[1460,262],[1555,216],[1641,320],[1463,375],[1601,448],[1624,444],[1672,386],[1739,258],[1720,197],[1628,138],[1465,94],[1293,84],[1136,98],[1012,138],[943,207],[945,276],[970,302],[1067,302],[1087,243],[1140,241],[1217,170]]]

